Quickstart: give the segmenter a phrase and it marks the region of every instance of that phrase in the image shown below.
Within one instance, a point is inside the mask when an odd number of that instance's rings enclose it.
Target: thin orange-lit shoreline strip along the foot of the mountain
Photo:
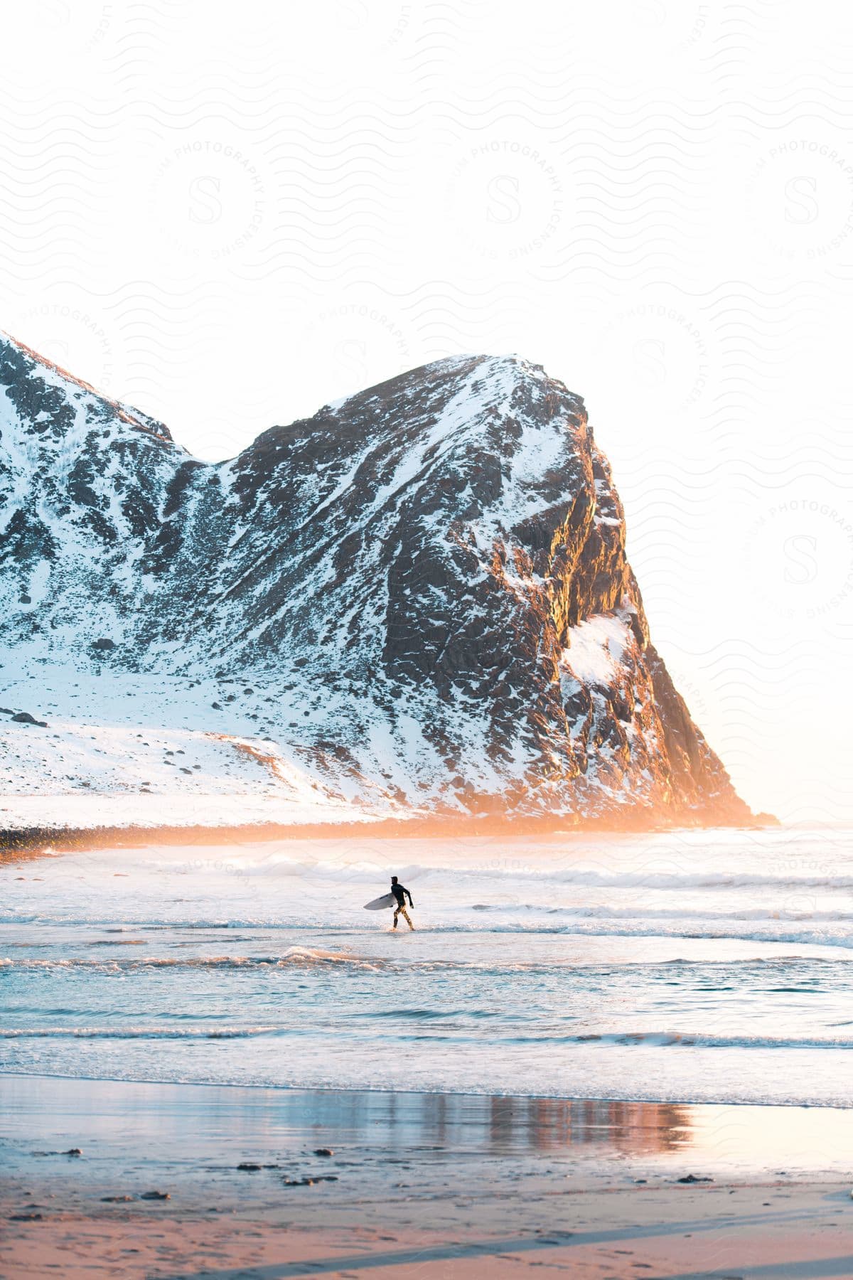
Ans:
[[[156,826],[141,827],[20,827],[0,829],[0,860],[46,851],[72,852],[81,849],[127,849],[146,845],[231,845],[288,840],[446,840],[489,837],[513,840],[567,838],[591,832],[615,836],[653,835],[671,831],[763,831],[781,826],[772,814],[756,814],[752,822],[685,822],[684,814],[673,820],[637,814],[634,822],[616,822],[614,815],[583,818],[572,815],[505,818],[494,814],[474,817],[381,818],[363,822],[281,824],[274,822],[242,826]],[[680,820],[679,820],[680,819]]]

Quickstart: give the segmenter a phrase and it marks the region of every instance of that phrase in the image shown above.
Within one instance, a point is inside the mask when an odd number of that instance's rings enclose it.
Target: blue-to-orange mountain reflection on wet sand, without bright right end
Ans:
[[[367,1149],[455,1149],[506,1155],[569,1152],[653,1156],[691,1146],[691,1107],[651,1102],[379,1093],[324,1089],[235,1089],[216,1085],[0,1078],[12,1130],[28,1138],[83,1126],[106,1144],[152,1132],[180,1144],[235,1137],[269,1151],[299,1144],[306,1132]],[[13,1138],[14,1133],[8,1132]],[[70,1142],[70,1139],[69,1139]],[[73,1146],[73,1143],[72,1143]]]

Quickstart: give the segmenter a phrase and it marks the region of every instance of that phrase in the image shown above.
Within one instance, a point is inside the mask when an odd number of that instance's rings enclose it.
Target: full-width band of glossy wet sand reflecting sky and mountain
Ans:
[[[362,1167],[487,1158],[508,1170],[541,1160],[684,1171],[714,1167],[847,1171],[853,1108],[691,1106],[599,1100],[260,1089],[0,1075],[9,1172],[35,1151],[84,1148],[77,1176],[168,1162],[171,1170],[240,1160],[297,1167],[331,1147]],[[224,1158],[224,1153],[226,1153]],[[509,1158],[508,1158],[509,1157]],[[55,1170],[63,1172],[59,1166]],[[64,1175],[63,1175],[64,1176]]]

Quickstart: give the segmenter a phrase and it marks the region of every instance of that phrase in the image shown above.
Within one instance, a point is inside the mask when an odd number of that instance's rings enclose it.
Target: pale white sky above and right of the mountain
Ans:
[[[825,0],[10,4],[0,328],[205,458],[544,364],[747,801],[850,820],[852,51]]]

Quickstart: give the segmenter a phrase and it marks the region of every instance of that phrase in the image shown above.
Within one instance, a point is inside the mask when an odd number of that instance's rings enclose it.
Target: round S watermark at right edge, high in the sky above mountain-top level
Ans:
[[[834,257],[853,234],[853,155],[822,138],[784,138],[751,182],[758,233],[789,261]]]

